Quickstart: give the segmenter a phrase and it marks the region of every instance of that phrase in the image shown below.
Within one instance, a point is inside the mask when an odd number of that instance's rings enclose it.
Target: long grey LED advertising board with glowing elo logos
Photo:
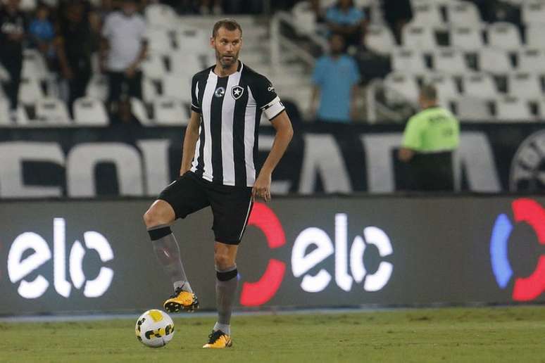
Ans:
[[[160,307],[171,286],[142,214],[151,200],[0,203],[0,314]],[[545,301],[545,198],[275,198],[239,249],[238,306]],[[214,309],[211,212],[173,230]]]

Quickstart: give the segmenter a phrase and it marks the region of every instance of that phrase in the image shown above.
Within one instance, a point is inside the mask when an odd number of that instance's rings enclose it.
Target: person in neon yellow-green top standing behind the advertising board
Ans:
[[[408,189],[453,191],[452,156],[460,143],[460,124],[437,105],[434,86],[420,89],[418,103],[422,110],[408,120],[399,150],[399,159],[408,166]]]

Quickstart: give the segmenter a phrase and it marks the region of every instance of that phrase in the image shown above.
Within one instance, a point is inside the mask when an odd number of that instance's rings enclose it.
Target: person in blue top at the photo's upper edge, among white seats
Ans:
[[[327,9],[325,21],[331,32],[341,34],[348,46],[363,44],[365,15],[354,6],[353,0],[339,0]]]

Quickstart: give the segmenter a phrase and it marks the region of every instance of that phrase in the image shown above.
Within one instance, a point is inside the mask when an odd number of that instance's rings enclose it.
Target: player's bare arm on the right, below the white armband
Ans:
[[[280,162],[282,155],[286,152],[289,145],[289,141],[292,141],[294,136],[294,129],[292,122],[285,110],[275,116],[272,120],[272,127],[275,128],[275,140],[272,143],[270,153],[261,167],[256,183],[253,184],[251,191],[253,198],[256,196],[263,198],[265,202],[270,200],[270,183],[272,179],[272,171],[275,170],[276,165]]]

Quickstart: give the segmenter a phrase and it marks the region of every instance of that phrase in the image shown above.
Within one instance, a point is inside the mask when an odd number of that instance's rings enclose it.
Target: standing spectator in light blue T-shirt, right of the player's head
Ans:
[[[316,62],[313,72],[312,114],[320,95],[318,120],[348,123],[356,118],[356,98],[360,73],[356,60],[344,54],[344,38],[333,33],[330,36],[330,54]]]

